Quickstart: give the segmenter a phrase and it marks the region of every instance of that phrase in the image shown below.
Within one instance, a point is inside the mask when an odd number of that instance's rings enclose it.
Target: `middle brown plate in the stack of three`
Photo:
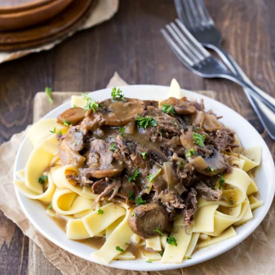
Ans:
[[[0,13],[0,31],[21,29],[43,22],[55,16],[70,4],[71,1],[72,0],[54,0],[23,11]]]

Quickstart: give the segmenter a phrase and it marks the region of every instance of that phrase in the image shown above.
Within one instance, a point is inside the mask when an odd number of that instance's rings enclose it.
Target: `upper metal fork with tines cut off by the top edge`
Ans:
[[[221,33],[216,28],[203,0],[174,0],[174,3],[179,19],[191,34],[202,45],[215,50],[231,71],[235,75],[239,75],[243,81],[249,84],[249,87],[265,96],[265,92],[250,81],[234,59],[221,47]],[[248,88],[243,88],[243,90],[267,133],[272,139],[275,139],[274,115],[272,112],[270,113],[270,110],[260,100],[250,96]],[[270,98],[266,97],[266,99],[269,100]],[[271,97],[271,102],[273,102],[272,100],[275,99]]]

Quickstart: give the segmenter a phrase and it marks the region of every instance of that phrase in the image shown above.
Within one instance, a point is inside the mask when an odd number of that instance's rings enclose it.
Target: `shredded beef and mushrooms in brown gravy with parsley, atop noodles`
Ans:
[[[228,153],[237,143],[234,132],[203,102],[169,97],[157,102],[126,98],[120,89],[86,107],[72,107],[58,116],[69,124],[59,135],[59,158],[78,173],[67,178],[86,185],[109,201],[133,207],[131,230],[143,238],[169,231],[183,217],[188,227],[198,196],[222,199],[216,187],[230,171]]]

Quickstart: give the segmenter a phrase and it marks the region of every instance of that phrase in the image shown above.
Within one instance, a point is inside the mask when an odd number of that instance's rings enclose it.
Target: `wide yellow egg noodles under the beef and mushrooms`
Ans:
[[[174,80],[168,95],[181,97]],[[72,105],[83,104],[80,97],[72,97]],[[132,208],[104,198],[94,205],[98,195],[91,191],[90,186],[81,187],[67,179],[66,175],[77,173],[78,168],[70,164],[62,166],[57,156],[56,134],[50,132],[53,128],[62,134],[68,130],[68,126],[57,123],[56,119],[40,120],[30,128],[27,137],[33,150],[25,168],[17,171],[19,179],[14,181],[14,185],[26,197],[47,203],[48,212],[65,218],[67,238],[105,237],[101,248],[91,254],[92,258],[103,263],[135,259],[135,255],[127,250],[131,243],[145,247],[141,257],[148,262],[180,263],[190,258],[195,249],[235,236],[234,226],[251,219],[252,210],[262,204],[254,196],[258,188],[251,173],[260,164],[261,148],[256,146],[243,150],[241,154],[231,153],[233,168],[230,173],[223,174],[222,200],[207,201],[199,197],[194,220],[187,229],[183,218],[174,220],[172,236],[176,245],[167,243],[166,233],[143,240],[128,225]],[[47,176],[45,182],[37,181],[41,175]],[[216,187],[219,187],[218,181]]]

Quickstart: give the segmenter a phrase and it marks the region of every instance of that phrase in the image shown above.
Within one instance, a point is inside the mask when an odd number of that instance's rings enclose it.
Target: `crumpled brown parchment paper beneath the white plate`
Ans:
[[[117,73],[110,79],[108,86],[125,85]],[[215,97],[213,91],[198,91],[205,95]],[[53,93],[54,105],[47,102],[43,92],[37,93],[34,98],[35,120],[44,115],[50,108],[68,99],[72,92]],[[75,92],[74,92],[75,94]],[[167,275],[233,275],[233,274],[275,274],[275,203],[273,201],[269,212],[257,229],[240,244],[211,260],[190,267],[178,268],[160,272],[137,272],[109,268],[95,264],[66,252],[59,248],[39,232],[24,216],[15,196],[12,184],[13,162],[18,146],[25,135],[25,131],[14,134],[9,141],[0,146],[0,209],[13,220],[22,232],[31,238],[42,250],[47,259],[63,274],[96,274],[96,275],[126,275],[126,274],[167,274]]]

